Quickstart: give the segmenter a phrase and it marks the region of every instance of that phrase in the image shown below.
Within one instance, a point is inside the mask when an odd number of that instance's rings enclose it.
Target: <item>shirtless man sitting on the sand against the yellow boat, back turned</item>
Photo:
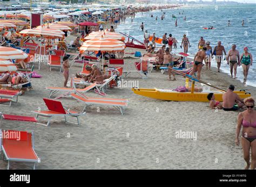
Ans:
[[[234,85],[230,85],[228,90],[223,93],[223,110],[225,111],[236,111],[244,106],[244,101],[237,93],[234,93]]]

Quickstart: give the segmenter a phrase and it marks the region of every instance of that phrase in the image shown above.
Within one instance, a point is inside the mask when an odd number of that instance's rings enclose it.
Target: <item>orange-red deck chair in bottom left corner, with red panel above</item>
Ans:
[[[1,115],[1,127],[2,120],[29,121],[35,124],[37,123],[37,120],[34,117],[15,116],[2,113]],[[8,135],[5,137],[6,134]],[[2,146],[0,146],[0,148],[2,147],[3,150],[2,159],[5,158],[8,161],[7,169],[10,168],[10,162],[32,162],[34,163],[33,169],[36,168],[36,163],[41,162],[41,159],[39,159],[34,149],[33,132],[1,130],[0,137],[0,144],[2,142]]]

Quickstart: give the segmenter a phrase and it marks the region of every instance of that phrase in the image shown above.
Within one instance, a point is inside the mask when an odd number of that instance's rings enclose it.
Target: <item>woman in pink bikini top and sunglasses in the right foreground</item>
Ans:
[[[244,152],[244,159],[247,163],[245,169],[250,167],[250,148],[252,152],[251,169],[256,168],[256,111],[254,110],[254,99],[244,99],[246,111],[239,113],[235,143],[239,145],[239,134],[242,126],[241,144]]]

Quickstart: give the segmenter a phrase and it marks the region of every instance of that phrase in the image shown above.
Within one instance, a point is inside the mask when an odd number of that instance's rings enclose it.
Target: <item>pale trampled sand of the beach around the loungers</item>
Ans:
[[[126,52],[133,52],[127,48]],[[136,50],[139,51],[139,50]],[[143,51],[142,51],[143,52]],[[133,69],[138,58],[125,55],[125,66]],[[19,97],[11,107],[1,106],[6,114],[34,116],[31,111],[46,109],[42,98],[45,87],[62,87],[64,77],[45,65],[38,71],[42,78],[32,78],[31,91]],[[70,76],[82,70],[80,64],[70,68]],[[240,73],[240,72],[239,72]],[[227,89],[246,89],[255,97],[254,87],[244,87],[224,73],[203,70],[202,80]],[[140,88],[173,89],[185,84],[184,78],[167,81],[167,74],[153,71],[142,79],[132,73],[125,80],[138,80]],[[37,169],[243,169],[241,146],[235,146],[235,127],[239,112],[208,107],[208,103],[168,102],[135,95],[131,88],[107,90],[107,97],[127,98],[129,104],[122,116],[113,107],[91,106],[81,125],[65,124],[64,118],[53,118],[50,126],[36,126],[35,150],[41,158]],[[100,97],[93,91],[91,97]],[[60,99],[64,106],[81,111],[82,103],[72,98]],[[42,118],[39,118],[42,119]],[[44,121],[45,122],[45,121]],[[31,124],[3,121],[3,128],[33,130]],[[197,132],[197,140],[177,139],[177,131]],[[216,160],[217,159],[217,160]],[[217,162],[217,163],[216,163]],[[0,161],[0,169],[7,163]],[[12,163],[11,169],[31,169],[32,164]]]

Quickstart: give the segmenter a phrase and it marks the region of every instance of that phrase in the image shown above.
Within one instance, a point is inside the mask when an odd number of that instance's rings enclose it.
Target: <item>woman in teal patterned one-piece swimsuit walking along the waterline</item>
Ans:
[[[248,47],[244,48],[244,53],[241,54],[240,56],[240,62],[242,64],[242,69],[244,70],[244,84],[246,83],[247,80],[247,75],[250,66],[252,66],[252,54],[248,53]]]

